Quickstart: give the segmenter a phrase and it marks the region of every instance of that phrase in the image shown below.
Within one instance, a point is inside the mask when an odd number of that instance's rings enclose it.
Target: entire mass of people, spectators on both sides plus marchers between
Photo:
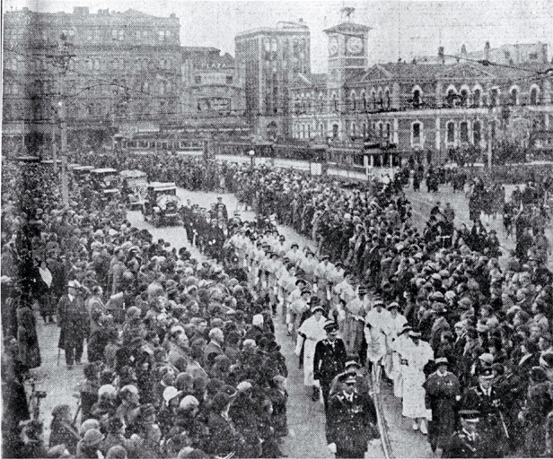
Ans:
[[[175,158],[161,162],[187,161]],[[156,175],[167,162],[132,161],[119,167],[179,183]],[[40,365],[30,292],[40,305],[51,299],[45,322],[57,305],[68,368],[87,340],[85,421],[72,427],[66,406],[54,416],[70,454],[122,446],[129,457],[281,455],[287,373],[273,317],[296,344],[314,403],[324,403],[339,457],[362,456],[378,437],[367,370],[393,387],[412,428],[444,457],[553,454],[553,274],[534,238],[502,266],[497,238],[479,219],[472,230],[455,228],[447,204],[435,204],[425,230],[412,226],[399,178],[347,187],[292,170],[209,168],[259,215],[250,223],[235,215],[219,229],[225,242],[208,255],[220,254],[224,268],[155,242],[117,202],[101,206],[92,191],[82,199],[83,186],[65,211],[42,193],[44,174],[4,170],[8,189],[26,190],[3,203],[11,368],[22,381]],[[214,212],[216,225],[216,204]],[[316,248],[286,243],[277,223]],[[202,227],[187,224],[190,242],[206,251]],[[18,447],[39,445],[35,430]]]

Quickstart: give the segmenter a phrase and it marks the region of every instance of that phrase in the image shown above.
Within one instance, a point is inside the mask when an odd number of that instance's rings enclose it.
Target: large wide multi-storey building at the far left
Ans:
[[[180,59],[174,14],[6,12],[3,134],[40,143],[60,103],[79,143],[101,139],[107,127],[158,128],[180,116]]]

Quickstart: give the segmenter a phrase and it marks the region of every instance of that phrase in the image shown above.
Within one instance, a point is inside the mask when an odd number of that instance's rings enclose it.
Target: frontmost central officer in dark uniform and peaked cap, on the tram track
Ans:
[[[367,443],[379,437],[373,399],[355,391],[355,376],[345,373],[339,382],[342,389],[329,400],[327,444],[336,457],[364,457]]]

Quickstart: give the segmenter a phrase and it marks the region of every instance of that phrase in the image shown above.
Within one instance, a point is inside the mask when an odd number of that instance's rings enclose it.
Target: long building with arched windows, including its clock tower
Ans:
[[[298,74],[291,87],[295,138],[379,141],[446,160],[461,146],[486,150],[509,135],[529,143],[532,132],[550,129],[553,72],[547,59],[516,68],[462,59],[367,68],[369,28],[345,22],[325,31],[329,74]]]

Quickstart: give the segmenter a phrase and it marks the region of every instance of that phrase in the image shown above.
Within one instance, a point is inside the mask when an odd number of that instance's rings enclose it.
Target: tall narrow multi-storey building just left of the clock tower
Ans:
[[[278,22],[235,37],[237,77],[245,88],[246,117],[256,134],[289,136],[289,86],[311,71],[310,31],[300,22]]]

